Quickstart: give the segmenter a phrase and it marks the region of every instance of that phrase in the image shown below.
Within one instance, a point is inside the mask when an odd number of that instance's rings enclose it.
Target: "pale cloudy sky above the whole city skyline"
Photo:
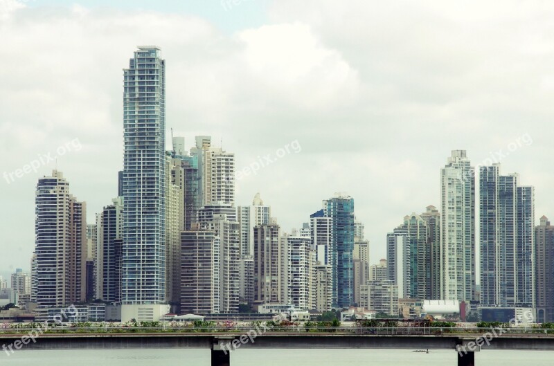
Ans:
[[[549,1],[0,0],[0,274],[30,268],[39,177],[57,166],[91,223],[117,195],[139,45],[166,60],[168,141],[265,162],[236,203],[260,192],[285,231],[345,192],[377,263],[406,214],[440,207],[453,149],[554,217],[552,19]]]

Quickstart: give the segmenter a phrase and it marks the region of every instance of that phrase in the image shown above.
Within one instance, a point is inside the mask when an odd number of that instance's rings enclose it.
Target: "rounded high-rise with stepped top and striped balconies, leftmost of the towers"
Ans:
[[[62,172],[39,179],[35,196],[36,300],[40,308],[82,302],[86,295],[86,205],[69,193]]]

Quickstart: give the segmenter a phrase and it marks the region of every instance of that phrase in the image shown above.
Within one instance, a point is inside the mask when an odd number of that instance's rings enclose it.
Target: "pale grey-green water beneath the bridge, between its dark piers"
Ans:
[[[4,366],[209,366],[206,349],[110,349],[16,351],[0,354]],[[406,349],[238,349],[231,366],[343,366],[410,365],[456,366],[456,352],[438,350],[429,354]],[[554,351],[491,351],[475,354],[476,366],[552,366]]]

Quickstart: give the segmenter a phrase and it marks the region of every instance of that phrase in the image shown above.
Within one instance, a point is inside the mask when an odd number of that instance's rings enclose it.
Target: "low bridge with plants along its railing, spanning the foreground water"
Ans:
[[[2,346],[3,345],[3,346]],[[554,329],[307,328],[202,327],[133,328],[100,331],[98,327],[0,330],[0,346],[19,349],[211,349],[211,365],[229,366],[239,348],[259,349],[452,349],[458,366],[474,366],[474,352],[486,349],[554,351]]]

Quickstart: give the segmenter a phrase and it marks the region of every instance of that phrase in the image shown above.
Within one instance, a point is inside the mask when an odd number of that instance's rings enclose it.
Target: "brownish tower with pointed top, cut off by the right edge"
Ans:
[[[554,322],[554,226],[546,216],[535,227],[537,322]]]

